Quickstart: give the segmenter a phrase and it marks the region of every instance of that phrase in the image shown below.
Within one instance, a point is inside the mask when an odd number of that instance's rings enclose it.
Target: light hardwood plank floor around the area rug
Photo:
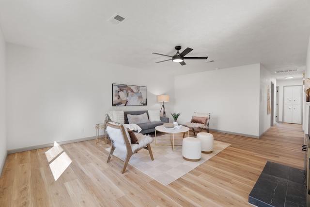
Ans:
[[[72,159],[55,181],[42,148],[8,155],[0,177],[0,207],[251,206],[248,194],[266,161],[304,168],[301,125],[279,124],[261,139],[210,131],[231,143],[217,156],[163,186],[113,158],[94,140],[62,145]]]

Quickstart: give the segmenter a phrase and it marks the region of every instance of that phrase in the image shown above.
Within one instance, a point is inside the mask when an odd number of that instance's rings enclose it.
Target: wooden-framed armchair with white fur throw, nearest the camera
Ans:
[[[124,166],[121,173],[125,172],[131,156],[137,153],[140,149],[147,149],[149,151],[151,159],[154,160],[150,145],[150,143],[153,142],[153,138],[151,136],[134,133],[132,131],[128,132],[127,128],[125,128],[123,125],[117,125],[115,123],[112,124],[110,122],[107,122],[106,124],[106,131],[112,143],[107,163],[110,161],[112,154],[116,148],[126,152],[126,158],[124,160]],[[132,133],[134,133],[134,135],[132,135]],[[130,136],[129,134],[134,136],[136,140],[133,141],[131,139],[132,136]]]

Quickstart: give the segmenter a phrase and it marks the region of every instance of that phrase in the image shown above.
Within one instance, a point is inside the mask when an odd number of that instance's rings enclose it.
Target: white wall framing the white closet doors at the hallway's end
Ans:
[[[288,79],[288,80],[278,80],[277,86],[279,86],[279,122],[283,122],[283,94],[284,86],[295,86],[303,85],[303,80],[301,79]],[[303,93],[304,95],[304,93]]]

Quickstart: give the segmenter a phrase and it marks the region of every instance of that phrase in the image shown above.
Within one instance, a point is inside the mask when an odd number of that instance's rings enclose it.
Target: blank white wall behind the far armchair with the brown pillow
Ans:
[[[260,64],[175,77],[178,123],[210,112],[210,129],[259,137]]]

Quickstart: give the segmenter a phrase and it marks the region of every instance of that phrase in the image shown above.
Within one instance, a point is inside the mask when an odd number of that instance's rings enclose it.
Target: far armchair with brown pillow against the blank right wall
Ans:
[[[184,126],[190,128],[195,135],[195,132],[202,132],[205,129],[209,133],[210,113],[195,112],[190,122],[187,122]],[[196,130],[195,130],[196,129]],[[184,137],[185,133],[183,134]]]

